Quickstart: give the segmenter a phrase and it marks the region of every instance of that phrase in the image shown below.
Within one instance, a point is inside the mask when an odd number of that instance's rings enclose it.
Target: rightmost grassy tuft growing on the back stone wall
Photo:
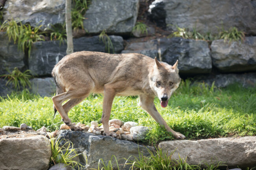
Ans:
[[[232,41],[243,42],[245,39],[245,34],[243,31],[238,31],[236,27],[230,27],[228,30],[224,30],[222,27],[221,31],[219,32],[219,38],[224,39],[224,42],[228,40],[228,43]]]

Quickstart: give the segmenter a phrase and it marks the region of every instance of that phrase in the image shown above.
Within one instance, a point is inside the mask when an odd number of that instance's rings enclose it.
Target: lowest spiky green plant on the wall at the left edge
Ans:
[[[32,76],[32,72],[27,69],[22,73],[19,71],[17,67],[13,69],[12,72],[7,70],[9,74],[0,75],[4,79],[8,79],[6,82],[6,86],[10,83],[16,90],[20,90],[20,85],[25,88],[26,86],[29,86],[31,88],[30,80]]]

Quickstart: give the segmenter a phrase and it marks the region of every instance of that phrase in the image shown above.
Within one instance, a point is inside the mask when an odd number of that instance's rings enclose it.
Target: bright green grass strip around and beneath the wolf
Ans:
[[[173,140],[174,137],[160,127],[154,119],[141,109],[137,97],[115,97],[110,119],[124,122],[135,121],[152,130],[145,143],[157,144]],[[90,96],[70,110],[72,122],[89,124],[100,121],[103,97]],[[218,89],[204,83],[191,84],[186,80],[169,100],[167,108],[155,105],[167,124],[183,133],[187,139],[245,136],[256,134],[256,87],[243,88],[236,84]],[[59,114],[53,120],[52,99],[26,95],[12,95],[0,101],[0,127],[20,126],[26,123],[35,130],[46,126],[58,129],[62,122]]]

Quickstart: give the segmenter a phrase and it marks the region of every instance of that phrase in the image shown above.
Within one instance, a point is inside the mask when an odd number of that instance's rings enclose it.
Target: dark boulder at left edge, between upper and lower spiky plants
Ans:
[[[25,68],[24,53],[18,49],[17,44],[5,32],[0,32],[0,75],[13,71],[17,67],[20,71]],[[17,43],[17,42],[16,42]]]

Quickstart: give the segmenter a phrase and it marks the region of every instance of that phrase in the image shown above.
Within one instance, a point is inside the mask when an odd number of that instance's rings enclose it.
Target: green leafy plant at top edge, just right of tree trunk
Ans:
[[[73,0],[74,8],[71,10],[72,28],[76,31],[78,28],[83,28],[83,16],[88,9],[89,0]]]

